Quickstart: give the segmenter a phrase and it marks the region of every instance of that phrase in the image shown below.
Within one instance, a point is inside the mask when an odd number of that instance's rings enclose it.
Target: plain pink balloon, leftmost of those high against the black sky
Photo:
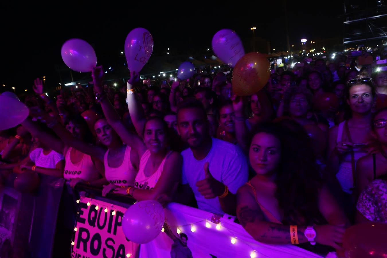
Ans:
[[[97,66],[96,52],[82,39],[69,39],[60,52],[63,62],[76,72],[91,72],[91,68]]]

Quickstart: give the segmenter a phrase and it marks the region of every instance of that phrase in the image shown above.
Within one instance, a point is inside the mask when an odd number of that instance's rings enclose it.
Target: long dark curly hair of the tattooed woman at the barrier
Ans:
[[[289,124],[290,123],[290,124]],[[324,223],[318,208],[322,188],[316,158],[307,132],[296,121],[260,124],[253,132],[268,133],[281,143],[275,197],[284,212],[283,224]]]

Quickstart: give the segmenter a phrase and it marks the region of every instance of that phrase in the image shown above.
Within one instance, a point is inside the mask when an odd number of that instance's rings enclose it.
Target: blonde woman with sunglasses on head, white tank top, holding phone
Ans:
[[[369,154],[371,142],[372,107],[375,100],[375,88],[372,80],[361,74],[349,80],[346,87],[346,99],[351,108],[352,117],[329,130],[328,163],[329,176],[336,175],[342,191],[346,212],[353,215],[354,185],[356,184],[356,161]],[[364,77],[361,77],[364,76]],[[356,196],[355,196],[356,197]]]

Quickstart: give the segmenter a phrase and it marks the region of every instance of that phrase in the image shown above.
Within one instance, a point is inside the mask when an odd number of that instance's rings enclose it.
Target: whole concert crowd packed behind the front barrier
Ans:
[[[131,72],[118,87],[96,67],[88,88],[52,98],[36,79],[29,118],[1,132],[2,177],[179,202],[236,215],[262,243],[339,250],[351,224],[387,222],[387,71],[342,57],[278,67],[248,97],[233,94],[227,66],[188,80]]]

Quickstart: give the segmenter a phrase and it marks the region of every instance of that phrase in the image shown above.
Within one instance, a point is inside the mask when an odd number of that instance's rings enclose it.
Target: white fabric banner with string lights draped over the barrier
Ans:
[[[221,218],[221,228],[211,222],[212,213],[196,208],[187,207],[178,203],[170,203],[165,209],[165,218],[175,236],[178,236],[177,227],[187,234],[187,245],[194,258],[197,257],[246,257],[250,258],[253,250],[258,258],[262,257],[321,257],[307,250],[288,245],[262,244],[255,241],[240,224]],[[209,221],[211,228],[205,226]],[[191,232],[191,224],[196,227]],[[183,226],[185,225],[185,226]],[[236,237],[236,243],[231,238]],[[140,258],[167,258],[170,257],[173,241],[165,232],[161,232],[156,239],[148,244],[140,245]],[[210,255],[211,254],[211,255]]]

